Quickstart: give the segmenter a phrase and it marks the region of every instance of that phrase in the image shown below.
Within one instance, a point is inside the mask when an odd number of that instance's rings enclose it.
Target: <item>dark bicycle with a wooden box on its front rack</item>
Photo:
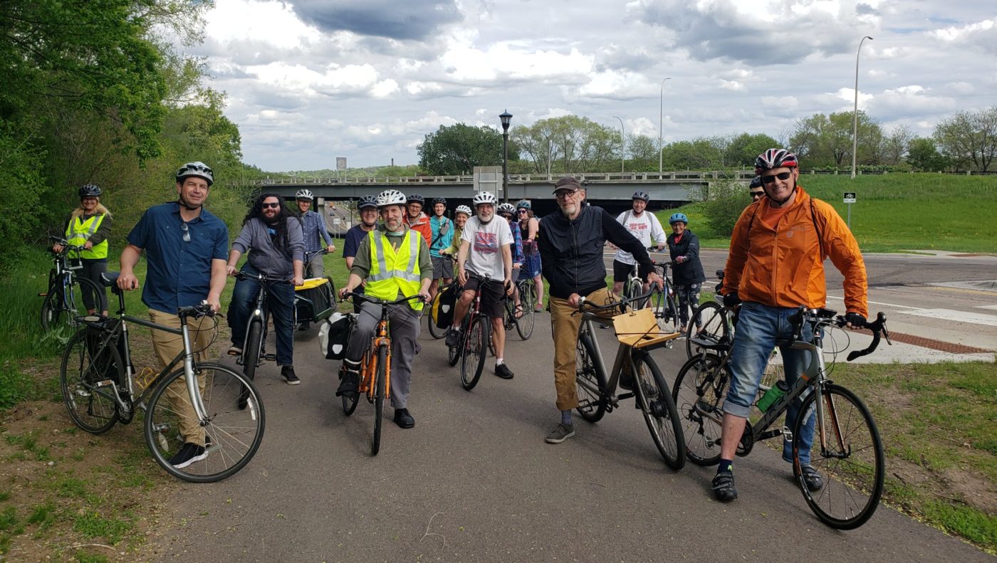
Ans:
[[[587,422],[598,422],[606,413],[619,407],[619,402],[635,398],[636,408],[651,432],[659,453],[672,469],[685,465],[686,445],[679,425],[679,413],[672,401],[671,390],[661,370],[651,358],[651,351],[671,347],[676,333],[662,332],[650,309],[631,310],[605,319],[598,312],[626,308],[631,303],[646,299],[650,293],[606,305],[594,305],[584,299],[578,304],[582,315],[576,344],[575,387],[578,395],[576,408]],[[595,324],[614,326],[619,347],[613,361],[609,379],[602,359],[602,350],[595,338]],[[617,384],[625,370],[630,373],[632,391],[616,395]]]

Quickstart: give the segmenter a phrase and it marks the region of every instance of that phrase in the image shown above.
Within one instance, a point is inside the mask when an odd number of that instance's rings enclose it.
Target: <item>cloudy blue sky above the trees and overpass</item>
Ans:
[[[851,110],[866,35],[858,105],[885,130],[997,105],[991,0],[215,0],[205,19],[187,51],[270,171],[416,163],[426,134],[506,109],[513,127],[786,139]]]

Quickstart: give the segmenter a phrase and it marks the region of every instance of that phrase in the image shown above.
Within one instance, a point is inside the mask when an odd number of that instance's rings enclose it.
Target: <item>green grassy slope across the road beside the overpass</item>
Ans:
[[[842,218],[845,191],[854,191],[851,231],[864,252],[949,250],[997,253],[997,177],[935,173],[809,175],[800,178],[808,193],[833,205]],[[747,189],[746,189],[747,191]],[[745,199],[747,205],[748,200]],[[703,246],[726,248],[727,236],[713,232],[702,203],[658,211],[681,211]]]

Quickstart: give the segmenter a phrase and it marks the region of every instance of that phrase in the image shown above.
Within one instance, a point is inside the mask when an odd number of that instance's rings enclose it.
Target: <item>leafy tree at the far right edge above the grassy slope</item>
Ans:
[[[987,171],[997,156],[997,106],[942,120],[935,127],[934,140],[957,166]]]

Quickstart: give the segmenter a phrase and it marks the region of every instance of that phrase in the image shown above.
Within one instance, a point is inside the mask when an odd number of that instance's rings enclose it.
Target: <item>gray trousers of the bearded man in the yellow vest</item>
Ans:
[[[408,305],[388,307],[389,331],[391,336],[391,406],[406,409],[409,404],[409,391],[412,387],[412,362],[416,359],[416,339],[422,328],[422,311]],[[371,338],[381,320],[381,306],[373,303],[360,305],[357,326],[350,334],[346,346],[346,361],[359,364],[364,352],[371,344]]]

